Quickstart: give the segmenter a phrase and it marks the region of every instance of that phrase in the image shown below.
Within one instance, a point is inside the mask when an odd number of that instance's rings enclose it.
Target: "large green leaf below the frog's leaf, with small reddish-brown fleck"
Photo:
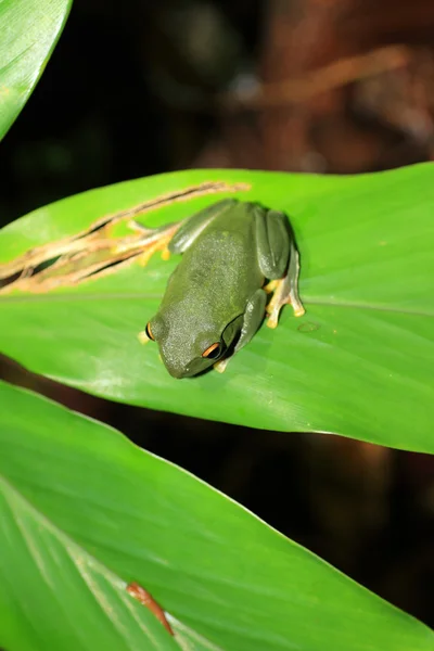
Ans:
[[[193,650],[433,649],[421,623],[118,432],[5,383],[0,404],[0,646],[173,648],[122,593],[137,580]]]

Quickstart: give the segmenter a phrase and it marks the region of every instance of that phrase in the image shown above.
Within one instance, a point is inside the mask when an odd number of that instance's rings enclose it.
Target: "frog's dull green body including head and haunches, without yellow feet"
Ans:
[[[230,199],[190,217],[168,248],[183,255],[148,329],[170,375],[190,378],[251,341],[265,281],[285,275],[294,243],[282,213]]]

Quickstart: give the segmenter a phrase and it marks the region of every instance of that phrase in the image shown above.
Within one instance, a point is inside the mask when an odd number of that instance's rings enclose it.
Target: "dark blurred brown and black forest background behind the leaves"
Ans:
[[[1,143],[1,226],[174,169],[429,161],[433,119],[432,0],[75,0]],[[117,405],[7,359],[0,373],[118,427],[434,625],[432,457]]]

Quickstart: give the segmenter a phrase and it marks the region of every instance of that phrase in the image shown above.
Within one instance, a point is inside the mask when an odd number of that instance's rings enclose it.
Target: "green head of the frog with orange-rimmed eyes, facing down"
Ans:
[[[186,316],[186,315],[184,315]],[[176,326],[181,323],[181,326]],[[241,333],[243,316],[240,315],[216,334],[204,326],[197,332],[197,322],[186,323],[177,319],[167,321],[156,315],[146,326],[149,339],[157,342],[164,365],[174,378],[192,378],[206,371],[230,352]],[[195,333],[194,336],[192,333]]]

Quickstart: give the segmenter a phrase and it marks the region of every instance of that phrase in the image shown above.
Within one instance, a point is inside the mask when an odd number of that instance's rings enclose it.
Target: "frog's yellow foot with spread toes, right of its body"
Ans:
[[[279,314],[284,305],[292,305],[294,316],[296,317],[302,317],[305,314],[305,308],[298,296],[298,252],[295,246],[292,245],[286,275],[278,280],[272,280],[264,288],[268,293],[273,292],[273,296],[266,307],[268,314],[268,328],[277,328]]]

